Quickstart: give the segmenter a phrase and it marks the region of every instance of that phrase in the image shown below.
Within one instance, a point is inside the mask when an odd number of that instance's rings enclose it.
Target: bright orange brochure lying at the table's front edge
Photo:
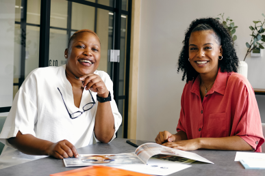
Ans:
[[[148,176],[147,174],[126,171],[121,168],[112,168],[108,166],[89,166],[77,168],[71,171],[51,174],[50,176],[116,176],[116,175],[131,175],[131,176]]]

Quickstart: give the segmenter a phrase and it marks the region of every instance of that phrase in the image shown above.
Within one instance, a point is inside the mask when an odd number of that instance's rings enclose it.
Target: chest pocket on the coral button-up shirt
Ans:
[[[206,137],[221,138],[227,136],[227,113],[210,114],[206,129]]]

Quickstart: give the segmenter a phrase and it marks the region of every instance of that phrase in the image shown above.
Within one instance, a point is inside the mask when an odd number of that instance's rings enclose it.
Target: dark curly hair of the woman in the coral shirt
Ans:
[[[177,72],[179,73],[179,70],[184,72],[182,80],[185,80],[186,77],[186,83],[188,83],[190,80],[193,80],[194,78],[197,78],[199,74],[188,61],[190,34],[193,31],[206,30],[214,31],[216,43],[218,44],[220,42],[219,45],[221,45],[223,48],[223,59],[218,61],[218,67],[220,68],[220,71],[238,72],[238,56],[236,55],[236,50],[233,46],[233,40],[229,34],[229,31],[227,31],[227,29],[225,29],[225,27],[214,18],[200,18],[193,20],[190,24],[190,27],[188,27],[185,33],[185,39],[182,42],[183,48],[179,54]],[[218,39],[220,41],[218,41]]]

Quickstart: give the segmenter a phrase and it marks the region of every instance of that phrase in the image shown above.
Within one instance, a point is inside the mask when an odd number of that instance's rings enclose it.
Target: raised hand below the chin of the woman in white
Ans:
[[[83,81],[83,87],[86,87],[86,90],[90,89],[91,91],[97,92],[97,95],[103,98],[109,96],[109,91],[99,75],[87,74],[81,76],[79,80]]]

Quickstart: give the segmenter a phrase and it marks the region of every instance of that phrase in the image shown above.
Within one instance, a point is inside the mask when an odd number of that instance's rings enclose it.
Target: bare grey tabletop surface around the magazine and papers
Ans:
[[[79,154],[107,154],[107,153],[127,153],[135,151],[136,147],[127,144],[125,138],[116,138],[112,143],[97,143],[77,149]],[[197,150],[192,151],[203,156],[214,164],[205,164],[202,162],[192,163],[190,168],[186,168],[172,175],[265,175],[265,170],[245,170],[240,162],[234,162],[236,151],[215,151],[215,150]],[[52,173],[60,173],[69,171],[77,167],[66,168],[62,160],[51,157],[18,164],[0,170],[1,176],[12,175],[50,175]]]

